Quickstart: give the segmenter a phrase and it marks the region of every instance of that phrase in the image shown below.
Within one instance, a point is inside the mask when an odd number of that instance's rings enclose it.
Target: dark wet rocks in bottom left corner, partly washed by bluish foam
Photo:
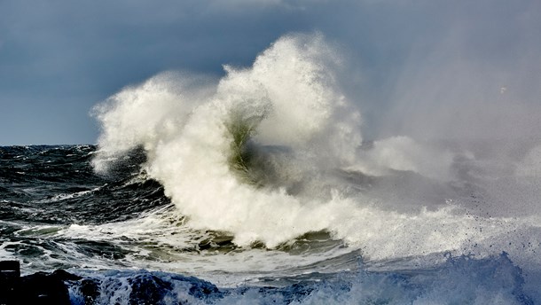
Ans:
[[[110,270],[81,277],[65,270],[56,270],[20,277],[20,262],[0,262],[0,305],[89,305],[102,304],[104,301],[161,304],[175,286],[182,286],[187,291],[186,300],[176,300],[180,304],[222,294],[216,285],[199,278],[162,272]],[[103,293],[106,293],[107,300],[102,300]]]

